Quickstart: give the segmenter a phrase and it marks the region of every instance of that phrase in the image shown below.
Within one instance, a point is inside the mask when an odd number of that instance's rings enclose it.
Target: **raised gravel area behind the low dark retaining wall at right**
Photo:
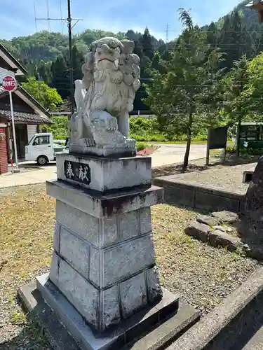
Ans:
[[[203,171],[177,174],[178,181],[189,181],[202,183],[208,186],[221,187],[225,190],[241,191],[248,190],[248,183],[243,183],[243,172],[255,167],[257,163],[243,165],[217,165]]]

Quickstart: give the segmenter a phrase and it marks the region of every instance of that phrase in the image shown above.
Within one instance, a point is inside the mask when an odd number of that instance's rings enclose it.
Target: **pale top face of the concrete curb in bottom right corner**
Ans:
[[[196,323],[167,350],[202,350],[263,290],[263,267],[229,295],[219,307]],[[238,337],[238,335],[237,335]],[[216,347],[214,349],[217,349]],[[220,348],[221,349],[221,348]]]

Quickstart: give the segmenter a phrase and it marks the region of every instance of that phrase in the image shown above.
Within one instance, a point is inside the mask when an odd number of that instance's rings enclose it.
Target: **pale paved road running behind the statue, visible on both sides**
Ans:
[[[152,167],[161,167],[180,163],[184,160],[185,145],[158,145],[160,148],[151,155]],[[205,145],[191,146],[189,160],[205,157]],[[25,165],[25,162],[22,162]],[[21,163],[21,165],[22,165]],[[27,165],[36,166],[35,162],[27,162]],[[30,185],[34,183],[44,183],[47,180],[55,180],[57,178],[55,162],[50,163],[47,167],[41,167],[36,171],[24,172],[20,174],[9,174],[0,176],[0,188]]]

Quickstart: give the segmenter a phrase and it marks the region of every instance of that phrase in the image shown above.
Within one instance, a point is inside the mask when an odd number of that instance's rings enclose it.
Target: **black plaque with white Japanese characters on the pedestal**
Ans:
[[[87,164],[65,160],[64,172],[66,178],[69,180],[85,183],[86,185],[90,184],[90,167]]]

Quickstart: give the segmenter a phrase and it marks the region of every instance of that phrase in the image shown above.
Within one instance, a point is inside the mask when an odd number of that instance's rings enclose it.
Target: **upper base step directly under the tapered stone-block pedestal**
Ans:
[[[137,312],[133,317],[123,321],[119,327],[100,333],[87,325],[67,297],[50,282],[47,274],[38,277],[36,283],[42,297],[79,344],[81,350],[122,349],[126,344],[140,338],[144,332],[151,330],[156,324],[173,316],[179,307],[179,298],[168,290],[163,290],[163,300]]]

